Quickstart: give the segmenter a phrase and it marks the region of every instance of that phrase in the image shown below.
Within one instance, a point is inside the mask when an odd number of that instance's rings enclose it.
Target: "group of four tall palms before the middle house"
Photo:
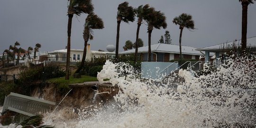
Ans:
[[[161,11],[156,11],[154,7],[150,7],[148,4],[140,5],[138,8],[133,9],[131,6],[128,6],[128,2],[123,2],[119,4],[118,7],[118,16],[117,16],[117,38],[116,38],[116,58],[119,57],[119,27],[121,21],[128,23],[128,21],[133,22],[135,20],[135,16],[137,17],[137,32],[136,32],[136,42],[135,42],[135,59],[137,62],[137,53],[138,46],[137,41],[139,37],[139,29],[143,21],[146,22],[147,25],[147,33],[148,33],[148,61],[151,61],[151,33],[154,28],[160,29],[163,27],[164,29],[167,27],[165,14]],[[182,40],[182,32],[183,28],[188,28],[189,30],[194,28],[194,21],[192,20],[192,16],[186,13],[181,14],[178,17],[175,17],[173,20],[175,25],[179,25],[180,32],[180,58],[182,56],[182,48],[181,48],[181,40]]]

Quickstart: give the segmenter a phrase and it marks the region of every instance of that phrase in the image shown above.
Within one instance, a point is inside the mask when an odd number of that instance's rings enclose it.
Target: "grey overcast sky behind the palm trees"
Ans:
[[[125,0],[92,0],[94,12],[104,21],[104,29],[94,30],[89,41],[91,50],[106,50],[116,44],[117,8]],[[241,38],[242,6],[238,0],[127,0],[138,7],[149,4],[165,13],[167,28],[154,29],[151,43],[156,44],[165,30],[170,31],[173,44],[179,43],[180,29],[174,17],[191,14],[197,28],[183,30],[182,45],[205,47]],[[0,54],[16,41],[27,49],[40,43],[40,51],[64,49],[67,45],[67,0],[0,0]],[[256,4],[248,6],[247,37],[256,36]],[[87,14],[73,17],[71,48],[83,49],[83,24]],[[127,40],[135,42],[137,19],[132,23],[121,22],[119,51]],[[146,25],[140,27],[139,37],[147,46]]]

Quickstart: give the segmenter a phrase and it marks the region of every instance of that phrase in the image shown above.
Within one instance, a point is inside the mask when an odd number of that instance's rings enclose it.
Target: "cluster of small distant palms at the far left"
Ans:
[[[9,59],[11,58],[14,65],[18,65],[19,64],[19,60],[20,60],[20,54],[24,54],[26,53],[26,50],[24,50],[20,46],[20,43],[18,41],[16,41],[14,43],[14,46],[10,45],[9,49],[5,49],[3,52],[3,56],[2,56],[2,64],[3,64],[3,68],[4,68],[4,60],[5,57],[4,55],[6,54],[6,60],[7,60],[7,65],[9,65]],[[34,59],[36,58],[36,53],[39,51],[39,48],[41,47],[41,44],[37,43],[35,48],[34,48]],[[27,54],[28,54],[28,60],[30,61],[30,53],[33,51],[33,48],[31,46],[29,46],[27,48]],[[17,54],[17,63],[15,64],[15,55]]]

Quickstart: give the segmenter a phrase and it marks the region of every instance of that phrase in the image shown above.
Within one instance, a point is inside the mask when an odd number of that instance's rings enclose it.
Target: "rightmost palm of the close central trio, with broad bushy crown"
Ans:
[[[145,17],[147,23],[147,33],[148,33],[148,62],[151,61],[151,33],[154,29],[164,29],[167,27],[165,14],[161,11],[155,11],[154,8],[150,9],[148,15]]]

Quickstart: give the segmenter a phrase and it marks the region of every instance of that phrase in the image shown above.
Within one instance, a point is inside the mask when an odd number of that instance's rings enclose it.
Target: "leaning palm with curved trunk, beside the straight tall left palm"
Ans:
[[[82,70],[82,67],[85,62],[86,52],[87,52],[87,42],[88,40],[92,40],[92,29],[102,29],[104,28],[104,23],[101,18],[99,18],[96,14],[90,13],[85,19],[84,29],[83,29],[83,39],[84,39],[84,47],[83,47],[83,55],[82,61],[75,71],[75,73],[79,73]]]

